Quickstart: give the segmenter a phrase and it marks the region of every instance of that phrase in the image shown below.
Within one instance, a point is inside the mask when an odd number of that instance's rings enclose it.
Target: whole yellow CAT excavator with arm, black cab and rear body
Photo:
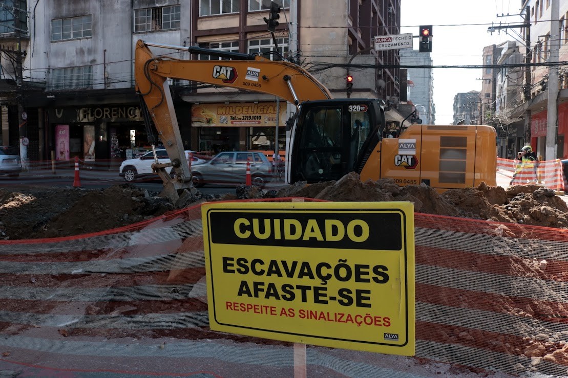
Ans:
[[[219,60],[154,56],[151,47]],[[253,75],[254,74],[254,75]],[[168,79],[267,93],[295,104],[286,124],[286,182],[338,180],[349,172],[361,180],[392,178],[399,186],[425,183],[437,191],[496,185],[496,132],[487,125],[419,125],[386,130],[380,100],[332,99],[329,90],[300,66],[260,55],[181,47],[139,40],[135,52],[136,91],[147,127],[153,123],[170,163],[154,163],[164,181],[162,196],[195,192]],[[402,126],[402,125],[401,125]],[[148,133],[149,137],[153,133]],[[155,142],[150,140],[155,154]],[[174,171],[173,177],[169,171]]]

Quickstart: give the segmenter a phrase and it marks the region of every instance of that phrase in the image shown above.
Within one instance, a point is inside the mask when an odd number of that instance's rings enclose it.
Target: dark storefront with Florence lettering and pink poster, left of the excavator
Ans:
[[[139,106],[51,108],[48,114],[56,160],[122,161],[151,149]]]

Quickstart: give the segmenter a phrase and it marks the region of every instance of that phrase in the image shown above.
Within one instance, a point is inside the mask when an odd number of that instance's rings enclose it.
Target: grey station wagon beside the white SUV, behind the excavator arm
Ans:
[[[264,186],[273,178],[272,163],[260,152],[230,151],[217,154],[210,161],[192,167],[193,184],[244,184],[247,159],[250,162],[250,178],[253,185]]]

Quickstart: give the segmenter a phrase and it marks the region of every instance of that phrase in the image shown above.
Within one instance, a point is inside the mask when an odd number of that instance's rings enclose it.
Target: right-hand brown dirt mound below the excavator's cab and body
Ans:
[[[329,201],[410,201],[415,212],[568,228],[568,207],[553,190],[527,184],[504,189],[481,183],[475,188],[451,189],[438,194],[433,188],[399,187],[392,179],[361,182],[350,173],[337,182],[307,185],[296,183],[275,197],[307,197]]]

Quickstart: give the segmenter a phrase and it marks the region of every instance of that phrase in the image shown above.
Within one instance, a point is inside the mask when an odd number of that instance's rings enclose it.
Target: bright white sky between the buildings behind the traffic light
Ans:
[[[400,32],[418,35],[420,25],[432,25],[433,65],[481,65],[483,47],[507,40],[522,41],[514,32],[488,33],[491,23],[521,23],[520,0],[401,0]],[[497,17],[507,15],[506,17]],[[524,11],[523,11],[524,14]],[[519,28],[517,32],[521,32]],[[414,38],[414,49],[418,39]],[[453,122],[453,102],[457,93],[481,91],[481,69],[436,68],[434,103],[436,124]],[[412,98],[411,98],[412,100]]]

